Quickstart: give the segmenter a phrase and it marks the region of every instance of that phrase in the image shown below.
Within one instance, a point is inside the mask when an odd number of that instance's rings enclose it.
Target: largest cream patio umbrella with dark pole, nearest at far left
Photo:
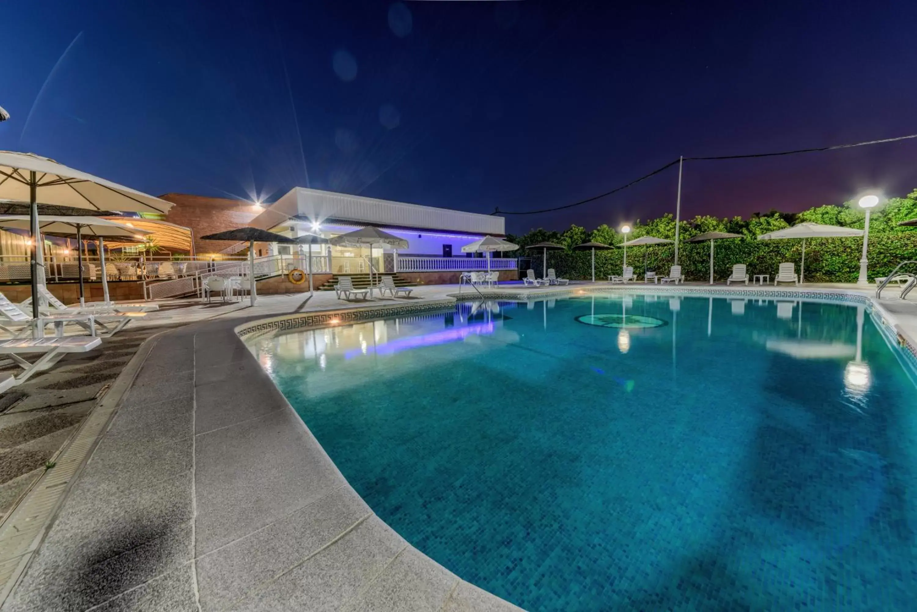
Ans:
[[[39,198],[46,204],[94,211],[166,213],[172,206],[158,197],[68,168],[34,153],[0,151],[0,199],[22,200],[30,205],[32,317],[35,318],[39,318],[40,314],[36,283],[44,277],[39,239]],[[36,326],[34,333],[43,333],[41,326]]]

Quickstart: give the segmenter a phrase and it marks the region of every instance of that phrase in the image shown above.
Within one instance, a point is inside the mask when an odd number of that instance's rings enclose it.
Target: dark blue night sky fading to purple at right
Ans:
[[[5,3],[0,149],[152,194],[558,206],[679,155],[917,133],[917,3]],[[754,4],[755,6],[750,6]],[[917,187],[917,141],[686,164],[683,214]],[[677,172],[510,231],[674,209]]]

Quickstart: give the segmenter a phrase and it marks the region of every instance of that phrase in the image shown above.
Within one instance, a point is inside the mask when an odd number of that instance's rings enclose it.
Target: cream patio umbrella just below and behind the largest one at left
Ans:
[[[0,228],[28,229],[30,227],[31,219],[28,215],[0,215]],[[115,238],[121,242],[138,242],[152,233],[145,229],[128,228],[121,223],[100,219],[98,217],[59,217],[48,215],[41,215],[39,217],[39,232],[48,236],[76,239],[76,261],[80,269],[80,306],[84,306],[86,303],[85,297],[83,296],[83,249],[80,246],[83,243],[83,238],[94,238],[98,241],[99,264],[102,267],[102,293],[105,303],[108,303],[108,278],[105,273],[105,239]]]

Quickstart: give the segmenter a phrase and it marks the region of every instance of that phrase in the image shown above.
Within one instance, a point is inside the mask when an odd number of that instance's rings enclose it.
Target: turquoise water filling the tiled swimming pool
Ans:
[[[917,607],[917,388],[862,306],[465,304],[251,348],[382,519],[526,609]]]

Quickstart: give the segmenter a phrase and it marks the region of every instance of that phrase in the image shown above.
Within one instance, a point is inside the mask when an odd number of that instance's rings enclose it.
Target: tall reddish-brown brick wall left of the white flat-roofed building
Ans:
[[[261,208],[242,200],[203,195],[166,194],[160,197],[175,206],[166,215],[166,221],[191,228],[194,252],[197,255],[217,253],[235,242],[202,240],[201,236],[226,229],[244,228],[261,213]]]

